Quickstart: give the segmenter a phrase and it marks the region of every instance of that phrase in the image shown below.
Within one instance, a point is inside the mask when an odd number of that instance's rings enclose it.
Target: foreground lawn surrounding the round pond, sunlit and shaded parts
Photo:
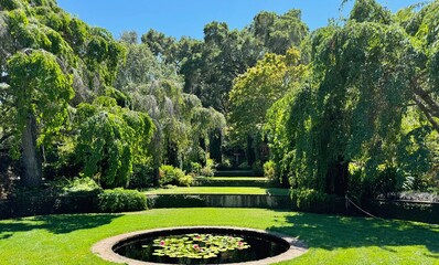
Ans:
[[[110,264],[92,254],[94,243],[126,232],[176,225],[279,231],[309,245],[307,254],[282,264],[439,264],[438,225],[224,208],[0,221],[0,264]]]

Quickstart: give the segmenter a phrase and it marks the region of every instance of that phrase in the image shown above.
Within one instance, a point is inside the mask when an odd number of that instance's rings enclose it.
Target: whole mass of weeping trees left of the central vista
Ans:
[[[159,40],[117,42],[54,1],[2,1],[0,12],[0,146],[23,158],[24,184],[85,176],[141,188],[162,163],[206,163],[225,119],[183,93],[175,66],[152,53]]]

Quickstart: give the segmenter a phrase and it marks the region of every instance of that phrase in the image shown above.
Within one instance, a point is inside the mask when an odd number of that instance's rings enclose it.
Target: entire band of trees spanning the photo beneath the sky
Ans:
[[[314,32],[290,10],[115,40],[55,1],[0,0],[1,189],[191,184],[214,166],[295,194],[437,189],[438,31],[439,1],[357,0]]]

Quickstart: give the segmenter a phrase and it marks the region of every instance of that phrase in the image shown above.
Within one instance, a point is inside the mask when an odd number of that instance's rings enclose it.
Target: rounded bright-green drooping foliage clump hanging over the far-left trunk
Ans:
[[[34,116],[39,123],[39,142],[58,131],[67,118],[68,102],[74,96],[72,77],[56,57],[43,50],[19,52],[8,61],[10,93],[15,106],[17,134]]]

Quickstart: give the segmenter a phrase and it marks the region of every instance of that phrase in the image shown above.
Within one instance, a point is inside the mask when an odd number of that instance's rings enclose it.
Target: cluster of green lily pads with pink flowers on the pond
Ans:
[[[250,245],[239,236],[183,234],[156,239],[152,255],[189,258],[212,258],[226,251],[245,250]],[[147,245],[142,247],[148,247]]]

